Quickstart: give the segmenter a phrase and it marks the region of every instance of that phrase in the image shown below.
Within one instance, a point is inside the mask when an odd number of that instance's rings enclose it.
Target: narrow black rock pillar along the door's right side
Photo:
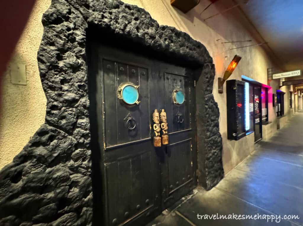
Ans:
[[[224,177],[220,113],[212,94],[214,77],[215,64],[205,63],[196,83],[198,182],[206,190]]]

